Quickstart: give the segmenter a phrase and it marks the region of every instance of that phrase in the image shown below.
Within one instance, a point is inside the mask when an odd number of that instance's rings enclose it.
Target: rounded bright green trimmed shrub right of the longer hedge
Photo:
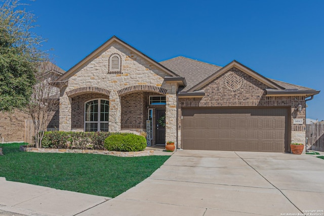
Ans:
[[[108,151],[143,151],[146,148],[146,139],[135,134],[110,135],[105,139],[105,148]]]

